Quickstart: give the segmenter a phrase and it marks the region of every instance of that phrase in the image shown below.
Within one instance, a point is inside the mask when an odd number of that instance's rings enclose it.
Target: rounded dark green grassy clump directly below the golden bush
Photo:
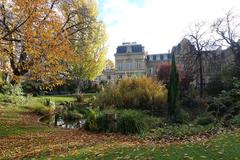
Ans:
[[[145,129],[143,114],[140,112],[125,110],[117,118],[117,130],[122,134],[141,133]]]

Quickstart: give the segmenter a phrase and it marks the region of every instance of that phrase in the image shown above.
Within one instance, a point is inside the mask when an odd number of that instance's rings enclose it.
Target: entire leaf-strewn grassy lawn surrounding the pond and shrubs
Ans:
[[[33,97],[30,104],[39,105],[42,98],[56,103],[74,100],[42,96]],[[240,130],[210,140],[152,142],[134,136],[53,128],[38,119],[27,107],[0,106],[0,159],[240,159]]]

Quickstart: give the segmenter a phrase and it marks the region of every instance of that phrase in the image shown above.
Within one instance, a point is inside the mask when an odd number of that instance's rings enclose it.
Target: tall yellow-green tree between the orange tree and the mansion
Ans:
[[[85,81],[94,80],[102,73],[106,63],[106,31],[98,20],[96,1],[70,0],[61,6],[66,19],[65,28],[71,35],[74,52],[80,57],[71,65],[71,76],[77,83],[77,93]],[[78,33],[77,31],[81,30]]]

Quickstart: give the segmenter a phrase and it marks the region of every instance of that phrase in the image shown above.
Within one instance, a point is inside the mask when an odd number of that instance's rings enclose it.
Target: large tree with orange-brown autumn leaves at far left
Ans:
[[[60,0],[1,0],[0,54],[10,63],[12,83],[24,76],[62,84],[74,62],[69,34],[58,12]]]

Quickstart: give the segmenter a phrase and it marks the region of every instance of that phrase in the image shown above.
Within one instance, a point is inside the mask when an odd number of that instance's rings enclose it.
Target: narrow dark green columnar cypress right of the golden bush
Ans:
[[[172,66],[168,85],[168,117],[175,120],[177,109],[177,97],[179,94],[179,75],[177,71],[175,55],[172,54]]]

